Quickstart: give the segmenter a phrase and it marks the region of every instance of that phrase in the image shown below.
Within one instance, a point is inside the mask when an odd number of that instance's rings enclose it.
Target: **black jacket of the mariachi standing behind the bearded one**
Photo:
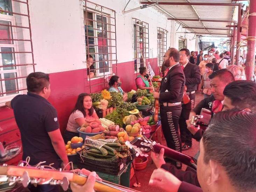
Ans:
[[[198,65],[187,63],[186,67],[184,68],[184,74],[187,86],[187,92],[197,90],[197,85],[201,82],[201,74]]]

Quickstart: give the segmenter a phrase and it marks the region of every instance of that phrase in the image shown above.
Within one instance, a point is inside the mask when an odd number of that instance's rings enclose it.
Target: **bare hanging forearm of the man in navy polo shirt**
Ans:
[[[61,158],[64,165],[69,163],[69,160],[67,159],[65,143],[62,138],[61,131],[59,129],[56,129],[54,131],[48,132],[48,135],[51,139],[51,143],[52,143],[52,146],[54,147],[54,150],[56,151],[57,155]],[[69,165],[67,165],[66,170],[70,170]]]

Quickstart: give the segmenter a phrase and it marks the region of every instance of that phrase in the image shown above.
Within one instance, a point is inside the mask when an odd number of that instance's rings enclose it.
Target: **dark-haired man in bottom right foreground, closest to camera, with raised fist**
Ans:
[[[154,170],[149,185],[167,192],[256,191],[255,125],[254,112],[228,110],[214,115],[199,146],[197,177],[201,188],[161,168]]]

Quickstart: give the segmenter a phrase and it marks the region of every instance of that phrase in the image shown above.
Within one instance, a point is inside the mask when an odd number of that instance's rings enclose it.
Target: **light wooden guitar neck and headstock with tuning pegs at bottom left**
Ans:
[[[69,187],[69,182],[84,185],[87,175],[82,173],[74,173],[72,171],[62,171],[44,168],[24,166],[21,163],[19,166],[8,166],[3,164],[0,166],[0,181],[11,183],[22,183],[27,187],[29,183],[34,185],[61,185],[63,190],[66,191]],[[107,181],[96,180],[94,190],[98,192],[136,192],[136,190],[129,189]]]

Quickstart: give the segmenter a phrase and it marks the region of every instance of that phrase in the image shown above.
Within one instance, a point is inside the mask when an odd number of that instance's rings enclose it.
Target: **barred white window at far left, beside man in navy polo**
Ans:
[[[12,99],[35,72],[28,0],[6,0],[0,11],[0,99]],[[1,100],[1,102],[4,102]]]

